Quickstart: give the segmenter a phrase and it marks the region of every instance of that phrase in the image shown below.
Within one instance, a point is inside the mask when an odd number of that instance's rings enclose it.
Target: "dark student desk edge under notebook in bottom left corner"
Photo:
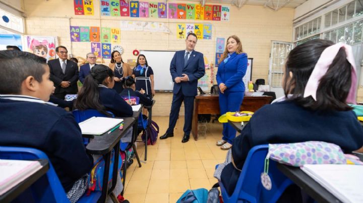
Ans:
[[[27,177],[25,180],[23,180],[13,188],[11,188],[9,191],[5,192],[3,195],[0,195],[0,202],[12,201],[48,171],[49,169],[48,160],[39,159],[37,161],[40,162],[40,165],[42,167],[38,169],[35,173],[33,173],[31,176]]]

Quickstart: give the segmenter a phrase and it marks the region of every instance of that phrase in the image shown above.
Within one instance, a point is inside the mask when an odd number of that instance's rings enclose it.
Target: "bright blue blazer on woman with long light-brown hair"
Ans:
[[[225,92],[245,91],[243,77],[247,71],[247,54],[235,52],[229,57],[227,63],[222,61],[218,66],[217,83],[224,83],[227,86]]]

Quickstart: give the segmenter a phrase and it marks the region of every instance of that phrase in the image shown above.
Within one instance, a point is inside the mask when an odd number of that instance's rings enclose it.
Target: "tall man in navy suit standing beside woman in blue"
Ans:
[[[194,51],[197,36],[190,33],[186,39],[186,50],[177,51],[170,63],[170,74],[174,82],[173,99],[169,116],[169,128],[160,139],[174,136],[174,127],[179,116],[181,103],[184,101],[185,120],[184,136],[181,142],[189,141],[192,129],[194,98],[197,95],[198,79],[204,76],[203,54]]]

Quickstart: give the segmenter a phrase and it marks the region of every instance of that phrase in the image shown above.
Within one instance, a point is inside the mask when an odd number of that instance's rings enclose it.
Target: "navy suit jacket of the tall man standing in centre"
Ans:
[[[192,51],[186,66],[184,66],[184,56],[185,50],[177,51],[170,63],[170,74],[174,82],[173,93],[177,94],[181,89],[185,96],[195,96],[197,95],[198,79],[205,73],[203,54]],[[183,77],[183,73],[188,75],[189,81],[176,83],[175,77]]]

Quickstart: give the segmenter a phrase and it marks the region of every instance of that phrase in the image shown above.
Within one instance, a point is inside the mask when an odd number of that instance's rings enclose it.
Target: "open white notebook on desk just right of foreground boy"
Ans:
[[[83,135],[102,135],[122,122],[124,119],[92,117],[79,123],[79,126]]]

